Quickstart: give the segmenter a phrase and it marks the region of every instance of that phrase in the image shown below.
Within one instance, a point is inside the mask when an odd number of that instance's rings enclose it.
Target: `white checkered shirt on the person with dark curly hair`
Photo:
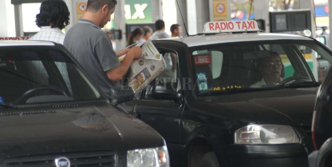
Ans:
[[[65,34],[59,28],[49,26],[41,27],[41,30],[32,36],[29,40],[43,40],[60,43],[63,45]]]

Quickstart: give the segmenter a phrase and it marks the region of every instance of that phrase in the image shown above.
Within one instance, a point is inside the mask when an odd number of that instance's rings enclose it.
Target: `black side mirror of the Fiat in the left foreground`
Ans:
[[[135,96],[135,91],[130,86],[112,87],[110,91],[110,100],[115,106],[130,101]]]

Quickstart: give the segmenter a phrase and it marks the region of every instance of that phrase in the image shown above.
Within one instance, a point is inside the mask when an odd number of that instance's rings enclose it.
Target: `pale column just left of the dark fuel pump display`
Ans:
[[[265,21],[265,32],[270,32],[270,4],[267,0],[254,0],[255,20]]]

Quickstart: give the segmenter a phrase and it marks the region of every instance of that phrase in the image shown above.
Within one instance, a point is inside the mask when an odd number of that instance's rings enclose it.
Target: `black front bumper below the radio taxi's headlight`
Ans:
[[[308,167],[308,153],[302,144],[225,146],[219,160],[238,167]],[[223,164],[220,164],[223,166]]]

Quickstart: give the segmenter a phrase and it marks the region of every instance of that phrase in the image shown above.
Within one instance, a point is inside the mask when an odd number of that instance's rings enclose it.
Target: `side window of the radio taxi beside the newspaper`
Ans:
[[[158,75],[149,85],[147,85],[144,89],[143,95],[141,95],[142,99],[152,100],[151,91],[152,85],[161,84],[165,86],[165,89],[171,89],[171,91],[176,92],[180,89],[179,79],[180,79],[180,70],[179,70],[179,62],[178,55],[175,52],[164,52],[162,53],[167,64],[167,68],[164,69],[162,73]],[[172,100],[163,100],[163,101],[172,101]]]

